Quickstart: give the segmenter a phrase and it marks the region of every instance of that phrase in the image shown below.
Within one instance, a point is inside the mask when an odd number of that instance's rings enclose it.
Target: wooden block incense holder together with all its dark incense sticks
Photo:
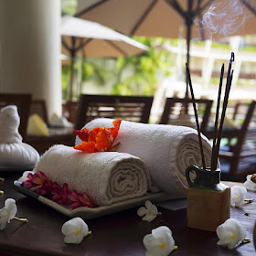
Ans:
[[[219,182],[220,170],[217,169],[217,165],[221,132],[224,123],[225,113],[227,110],[229,91],[233,78],[233,70],[231,71],[231,65],[234,60],[235,56],[232,52],[231,58],[229,60],[226,90],[218,131],[219,104],[224,74],[224,64],[222,65],[220,72],[219,94],[215,118],[214,139],[210,168],[207,168],[206,166],[200,126],[197,116],[196,100],[190,77],[190,71],[187,67],[187,81],[190,88],[193,108],[196,117],[198,142],[203,166],[202,168],[198,168],[196,165],[191,165],[188,166],[186,170],[187,183],[189,185],[187,192],[187,227],[189,228],[216,231],[217,227],[230,217],[230,187]],[[190,175],[193,176],[193,173],[194,175],[196,175],[194,180],[192,180],[190,177]]]

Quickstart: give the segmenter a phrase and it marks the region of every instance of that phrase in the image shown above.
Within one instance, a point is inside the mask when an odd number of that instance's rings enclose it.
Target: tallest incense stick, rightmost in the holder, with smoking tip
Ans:
[[[221,133],[222,133],[222,128],[223,128],[223,123],[225,119],[225,114],[228,106],[228,101],[229,101],[229,91],[231,88],[232,84],[232,79],[233,79],[233,71],[231,71],[231,66],[232,62],[234,61],[234,53],[231,53],[231,58],[229,60],[229,70],[228,70],[228,75],[227,75],[227,82],[226,82],[226,89],[225,89],[225,95],[224,95],[224,100],[223,100],[223,105],[222,105],[222,112],[221,112],[221,117],[220,117],[220,123],[219,123],[219,133],[218,133],[218,139],[217,143],[215,144],[214,147],[214,155],[212,159],[212,168],[215,170],[217,168],[217,163],[218,163],[218,156],[219,156],[219,145],[221,141]]]

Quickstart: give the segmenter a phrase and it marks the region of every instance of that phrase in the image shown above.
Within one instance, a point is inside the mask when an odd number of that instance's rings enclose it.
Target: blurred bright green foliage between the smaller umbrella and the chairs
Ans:
[[[95,86],[112,83],[112,93],[119,95],[153,95],[159,78],[169,76],[174,60],[164,48],[165,43],[173,44],[163,38],[136,37],[149,47],[143,54],[117,59],[90,58],[82,60],[81,80],[91,81]],[[174,42],[176,44],[176,42]],[[80,62],[74,69],[78,73]],[[69,65],[62,67],[63,95],[69,87]],[[64,93],[65,92],[65,93]],[[74,91],[74,95],[79,95]]]

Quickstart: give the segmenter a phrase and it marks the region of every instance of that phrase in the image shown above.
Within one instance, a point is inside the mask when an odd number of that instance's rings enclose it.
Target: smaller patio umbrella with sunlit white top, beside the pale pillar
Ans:
[[[86,57],[116,58],[137,55],[148,47],[111,28],[73,16],[61,20],[62,53],[71,57],[69,99],[72,100],[74,61],[80,53]]]

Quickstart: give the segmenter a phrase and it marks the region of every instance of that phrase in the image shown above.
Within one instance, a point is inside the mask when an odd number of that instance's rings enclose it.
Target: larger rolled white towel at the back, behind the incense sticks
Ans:
[[[91,130],[95,126],[112,127],[112,119],[100,118],[87,123]],[[210,165],[211,145],[202,136],[206,163]],[[76,144],[80,144],[76,137]],[[152,181],[162,191],[175,197],[186,197],[188,165],[201,166],[197,130],[185,126],[133,123],[122,121],[116,143],[118,152],[140,157],[148,166]]]

